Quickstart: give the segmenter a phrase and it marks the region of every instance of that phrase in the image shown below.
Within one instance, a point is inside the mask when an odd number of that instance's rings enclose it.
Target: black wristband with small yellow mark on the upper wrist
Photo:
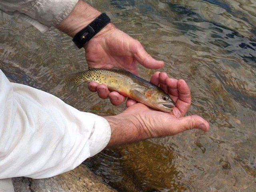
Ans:
[[[82,48],[91,38],[94,37],[100,30],[102,30],[108,23],[110,23],[110,18],[102,13],[96,19],[93,20],[86,28],[78,32],[74,38],[73,42],[78,48]]]

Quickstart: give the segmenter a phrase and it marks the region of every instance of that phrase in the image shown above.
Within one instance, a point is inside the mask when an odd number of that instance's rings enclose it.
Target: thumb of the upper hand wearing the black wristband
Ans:
[[[164,66],[163,61],[158,61],[152,58],[138,41],[134,41],[132,53],[134,54],[134,58],[146,68],[159,69]]]

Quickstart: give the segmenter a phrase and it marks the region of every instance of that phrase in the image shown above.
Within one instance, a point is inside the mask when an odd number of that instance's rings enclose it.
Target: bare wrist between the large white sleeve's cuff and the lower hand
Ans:
[[[111,138],[107,147],[138,142],[149,138],[144,131],[144,126],[135,116],[123,116],[120,114],[104,118],[111,128]]]

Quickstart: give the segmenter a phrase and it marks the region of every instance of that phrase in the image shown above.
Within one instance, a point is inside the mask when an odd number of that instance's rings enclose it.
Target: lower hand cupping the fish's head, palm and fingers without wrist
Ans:
[[[134,104],[134,101],[130,100],[129,107],[121,115],[136,116],[142,127],[146,128],[148,137],[175,135],[192,128],[209,130],[208,122],[202,117],[197,115],[184,117],[191,104],[190,90],[184,80],[168,78],[166,73],[156,72],[151,82],[160,86],[172,97],[176,105],[173,111],[169,114],[156,111],[141,103]]]

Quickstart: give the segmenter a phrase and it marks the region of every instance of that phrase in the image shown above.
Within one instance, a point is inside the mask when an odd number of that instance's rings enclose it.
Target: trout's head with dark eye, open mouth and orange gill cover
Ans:
[[[172,98],[160,88],[148,90],[145,95],[152,107],[162,112],[172,112],[175,106]]]

